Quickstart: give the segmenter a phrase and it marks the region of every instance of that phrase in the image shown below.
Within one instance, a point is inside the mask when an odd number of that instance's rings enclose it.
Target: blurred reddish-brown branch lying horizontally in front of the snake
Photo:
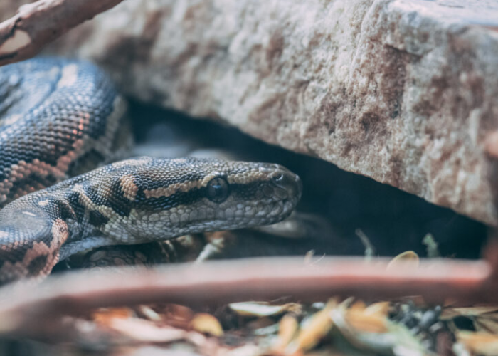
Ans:
[[[422,261],[418,268],[386,270],[386,260],[258,258],[169,265],[145,270],[119,268],[66,273],[33,285],[6,286],[0,293],[0,334],[36,335],[43,320],[78,315],[93,308],[140,303],[215,304],[243,300],[325,300],[355,295],[366,300],[422,295],[428,302],[447,298],[498,302],[484,261]],[[36,320],[41,320],[40,323]],[[38,325],[38,324],[40,325]],[[38,326],[37,326],[38,325]]]

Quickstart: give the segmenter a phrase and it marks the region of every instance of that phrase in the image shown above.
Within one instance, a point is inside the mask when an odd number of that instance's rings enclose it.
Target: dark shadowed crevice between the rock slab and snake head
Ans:
[[[182,155],[176,151],[181,146],[187,146],[186,151],[221,149],[247,160],[277,162],[299,174],[304,194],[298,209],[324,216],[334,233],[310,243],[287,240],[285,243],[295,246],[287,253],[314,249],[318,256],[362,255],[364,247],[356,229],[364,231],[381,256],[407,250],[426,256],[422,239],[433,234],[443,256],[478,258],[486,241],[487,228],[477,221],[368,177],[344,172],[321,159],[267,145],[233,127],[137,102],[132,103],[132,116],[140,118],[134,124],[137,143],[147,141],[149,148],[156,147],[161,155]],[[261,242],[262,250],[275,246],[275,241]]]

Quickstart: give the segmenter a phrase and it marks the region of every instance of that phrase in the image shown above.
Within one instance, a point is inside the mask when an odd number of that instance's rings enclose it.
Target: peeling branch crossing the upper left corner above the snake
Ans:
[[[0,23],[0,66],[36,55],[63,33],[122,0],[40,0]]]

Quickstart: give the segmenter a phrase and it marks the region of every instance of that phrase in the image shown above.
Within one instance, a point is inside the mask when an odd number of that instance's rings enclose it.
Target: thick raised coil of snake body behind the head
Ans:
[[[90,63],[40,58],[0,68],[0,206],[110,159],[124,110]]]

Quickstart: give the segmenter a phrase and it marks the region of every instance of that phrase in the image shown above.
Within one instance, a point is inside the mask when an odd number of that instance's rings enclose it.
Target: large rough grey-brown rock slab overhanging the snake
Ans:
[[[58,48],[135,98],[496,225],[497,28],[482,0],[127,0]]]

